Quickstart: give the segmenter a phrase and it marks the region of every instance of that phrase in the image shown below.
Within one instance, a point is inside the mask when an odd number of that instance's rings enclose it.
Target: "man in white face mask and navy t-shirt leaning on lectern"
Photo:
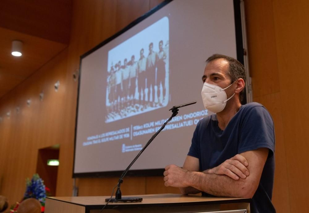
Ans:
[[[261,104],[241,105],[246,76],[239,61],[215,54],[206,62],[202,98],[216,114],[197,124],[183,168],[165,168],[165,186],[182,194],[252,198],[253,212],[276,212],[273,120]]]

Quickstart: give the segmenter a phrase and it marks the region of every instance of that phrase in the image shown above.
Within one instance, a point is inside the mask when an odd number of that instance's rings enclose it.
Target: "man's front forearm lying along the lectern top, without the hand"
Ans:
[[[226,175],[188,171],[187,181],[189,186],[197,190],[220,197],[251,198],[256,190],[245,179],[233,180]]]

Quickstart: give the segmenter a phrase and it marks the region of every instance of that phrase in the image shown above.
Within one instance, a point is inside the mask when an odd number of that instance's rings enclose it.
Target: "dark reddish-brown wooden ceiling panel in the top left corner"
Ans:
[[[72,0],[1,0],[0,27],[68,44]]]

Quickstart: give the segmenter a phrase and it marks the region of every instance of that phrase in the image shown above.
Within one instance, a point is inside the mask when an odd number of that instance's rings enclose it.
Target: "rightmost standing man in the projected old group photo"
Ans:
[[[158,86],[158,98],[161,93],[160,84],[162,84],[162,101],[165,98],[166,88],[165,88],[165,59],[166,53],[163,50],[163,40],[159,41],[159,53],[158,53],[158,61],[157,61],[157,86]],[[159,103],[162,105],[162,103]]]

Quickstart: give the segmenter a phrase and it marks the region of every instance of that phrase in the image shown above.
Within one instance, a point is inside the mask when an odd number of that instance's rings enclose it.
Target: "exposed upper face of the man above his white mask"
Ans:
[[[210,61],[205,67],[202,80],[203,82],[220,86],[224,89],[231,84],[228,69],[229,63],[223,58]]]

